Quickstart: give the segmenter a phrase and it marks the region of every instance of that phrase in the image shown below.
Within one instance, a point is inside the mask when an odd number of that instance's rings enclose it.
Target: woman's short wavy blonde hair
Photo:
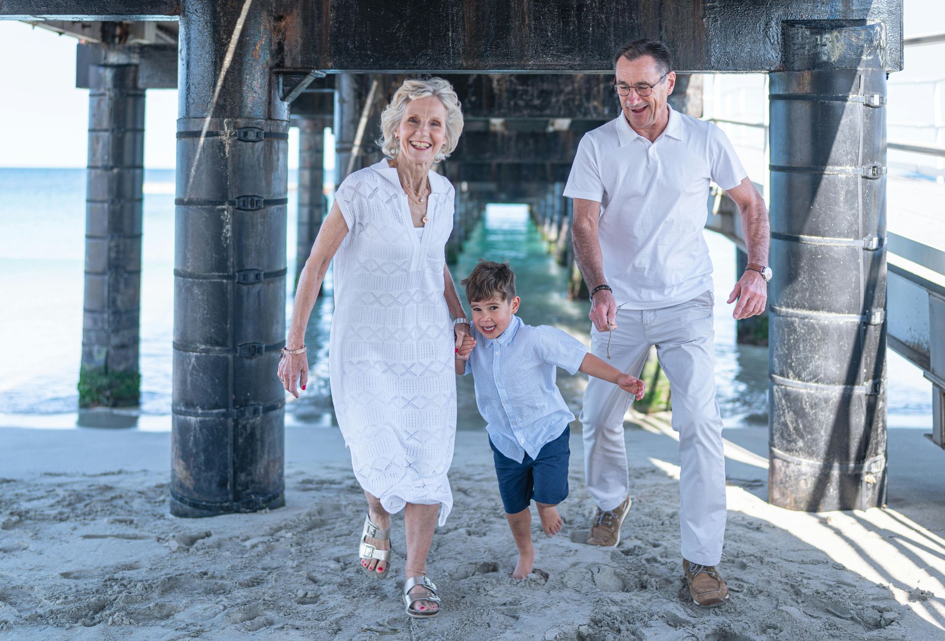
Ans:
[[[400,143],[394,134],[404,119],[407,103],[429,95],[436,95],[446,107],[446,135],[443,147],[440,147],[433,162],[438,163],[453,153],[463,132],[463,113],[459,108],[459,98],[453,90],[453,85],[447,80],[428,78],[404,80],[404,84],[394,93],[390,104],[381,113],[381,137],[377,139],[377,144],[385,156],[397,158],[397,154],[401,152]]]

